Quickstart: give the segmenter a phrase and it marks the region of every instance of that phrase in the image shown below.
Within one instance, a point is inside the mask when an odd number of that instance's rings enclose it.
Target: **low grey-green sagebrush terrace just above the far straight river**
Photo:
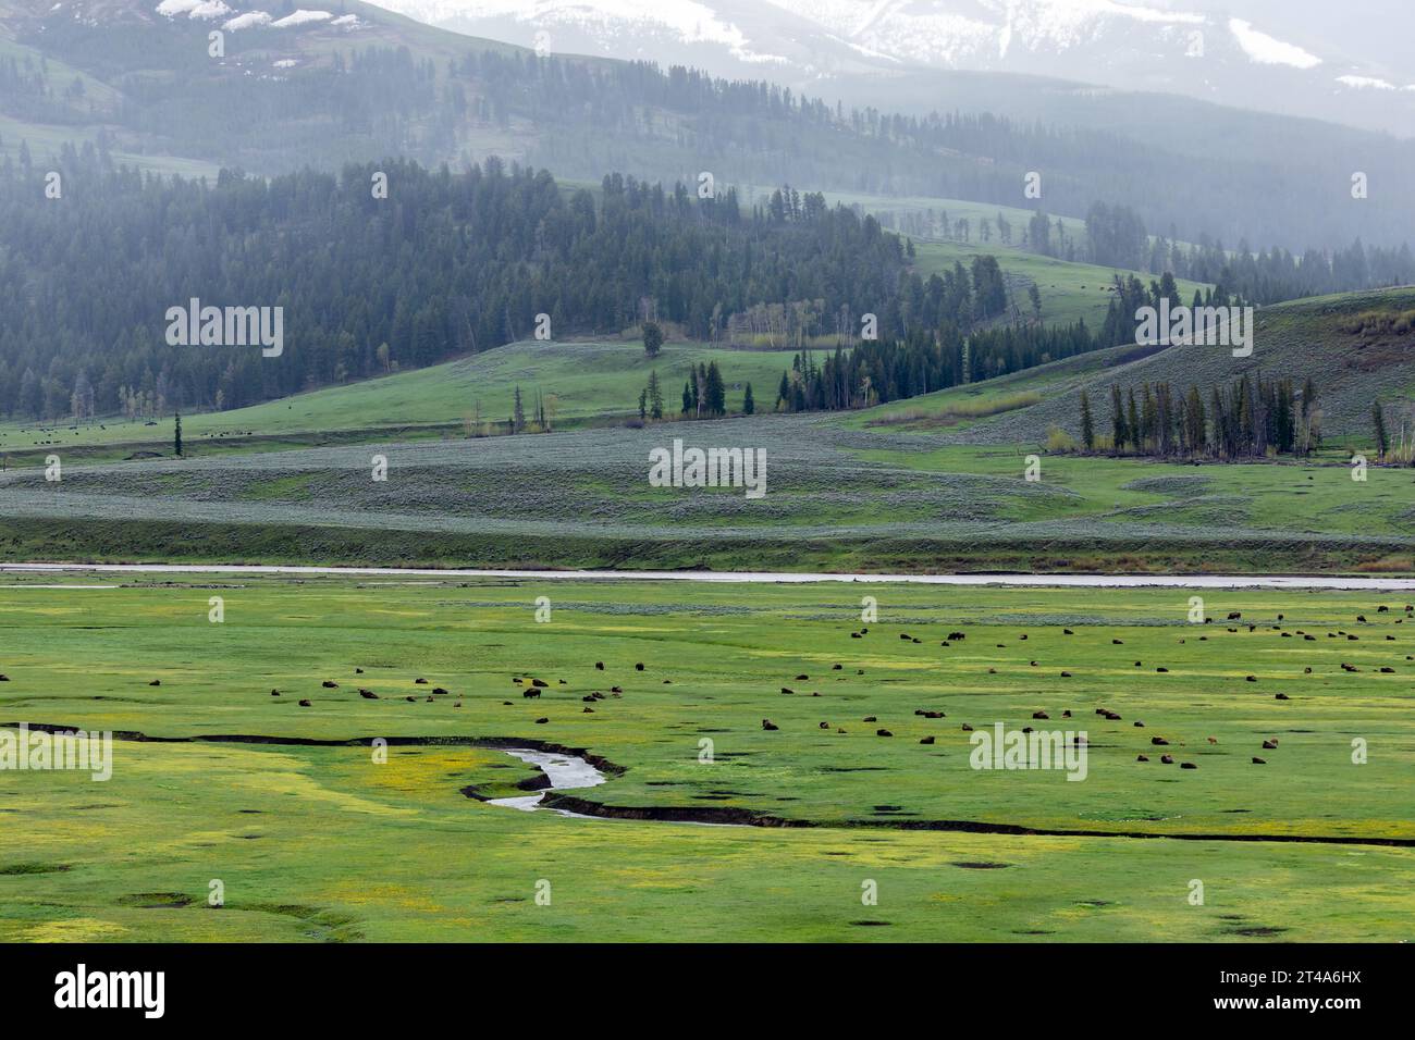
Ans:
[[[1000,416],[1006,417],[1006,416]],[[981,419],[974,422],[992,422]],[[761,449],[767,492],[651,487],[649,453]],[[719,570],[1408,573],[1415,473],[962,446],[828,416],[0,474],[0,559]],[[388,460],[374,480],[375,456]]]

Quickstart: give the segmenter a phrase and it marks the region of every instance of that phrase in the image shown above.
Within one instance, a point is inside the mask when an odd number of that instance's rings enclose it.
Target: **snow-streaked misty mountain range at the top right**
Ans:
[[[935,71],[1182,93],[1415,136],[1415,4],[1346,0],[376,0],[538,47],[841,92]],[[1368,8],[1363,14],[1363,6]],[[917,99],[908,99],[917,108]],[[903,105],[901,105],[903,106]]]

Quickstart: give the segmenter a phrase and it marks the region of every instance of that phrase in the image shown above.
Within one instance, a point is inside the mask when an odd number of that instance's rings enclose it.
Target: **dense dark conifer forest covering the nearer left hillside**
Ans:
[[[859,331],[865,313],[882,337],[906,321],[904,242],[819,195],[746,214],[732,191],[698,200],[617,174],[567,194],[495,158],[216,184],[93,156],[64,173],[50,201],[34,171],[0,177],[0,412],[23,419],[238,408],[531,337],[538,314],[558,338],[648,311],[715,340],[782,303],[805,337]],[[972,320],[966,289],[949,314],[917,291],[914,323]],[[170,345],[166,311],[190,299],[283,307],[283,354]]]

